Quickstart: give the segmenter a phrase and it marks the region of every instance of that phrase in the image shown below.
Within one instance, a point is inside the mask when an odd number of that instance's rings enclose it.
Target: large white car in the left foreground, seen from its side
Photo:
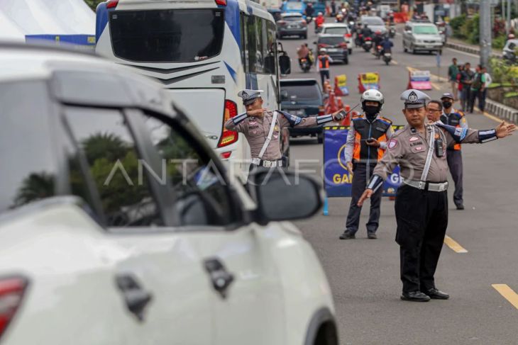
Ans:
[[[319,260],[280,222],[318,212],[319,183],[246,191],[128,67],[26,45],[0,64],[2,345],[338,344]]]

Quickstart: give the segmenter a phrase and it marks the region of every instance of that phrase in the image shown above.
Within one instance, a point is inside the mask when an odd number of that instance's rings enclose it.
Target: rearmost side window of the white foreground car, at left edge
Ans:
[[[43,82],[0,84],[0,213],[55,196],[57,163],[47,109]]]

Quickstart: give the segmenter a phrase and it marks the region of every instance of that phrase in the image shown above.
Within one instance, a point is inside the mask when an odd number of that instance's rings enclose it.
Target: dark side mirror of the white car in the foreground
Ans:
[[[311,176],[281,169],[250,174],[248,188],[258,205],[255,222],[297,220],[316,214],[324,203],[321,184]]]

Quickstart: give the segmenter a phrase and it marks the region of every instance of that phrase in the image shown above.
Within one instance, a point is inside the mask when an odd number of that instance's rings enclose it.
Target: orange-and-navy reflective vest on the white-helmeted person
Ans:
[[[380,142],[387,142],[387,131],[392,126],[392,121],[378,116],[370,123],[364,116],[357,115],[352,118],[356,137],[354,138],[353,159],[355,162],[376,163],[383,157],[385,149],[367,145],[366,139],[373,137]]]

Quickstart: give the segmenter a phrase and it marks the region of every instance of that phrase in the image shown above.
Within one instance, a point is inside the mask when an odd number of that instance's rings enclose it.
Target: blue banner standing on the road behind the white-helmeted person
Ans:
[[[394,130],[402,127],[392,126]],[[351,196],[353,174],[347,170],[345,156],[348,131],[342,126],[324,128],[324,188],[329,198]],[[397,166],[383,183],[383,196],[395,196],[401,183]]]

